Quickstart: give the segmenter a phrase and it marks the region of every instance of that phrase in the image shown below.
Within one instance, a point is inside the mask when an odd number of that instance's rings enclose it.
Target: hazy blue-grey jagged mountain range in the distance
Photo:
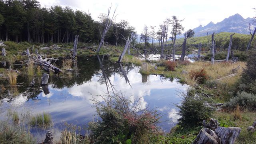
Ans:
[[[212,34],[213,32],[235,32],[240,34],[250,34],[249,23],[251,23],[251,31],[253,32],[255,28],[255,21],[256,20],[254,18],[244,19],[240,14],[235,14],[216,24],[214,24],[214,22],[210,22],[206,26],[200,25],[197,28],[194,28],[194,36],[206,36],[207,32],[209,34]]]

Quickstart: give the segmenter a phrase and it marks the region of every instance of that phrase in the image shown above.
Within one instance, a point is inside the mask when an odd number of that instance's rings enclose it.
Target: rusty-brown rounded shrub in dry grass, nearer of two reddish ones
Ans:
[[[191,70],[188,74],[190,79],[196,80],[198,84],[204,84],[204,82],[209,78],[204,68],[201,70]]]

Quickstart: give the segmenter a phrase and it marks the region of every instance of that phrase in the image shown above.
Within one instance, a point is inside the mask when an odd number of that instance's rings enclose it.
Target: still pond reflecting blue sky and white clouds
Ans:
[[[88,122],[98,119],[92,107],[92,96],[102,101],[97,95],[104,96],[112,91],[111,87],[106,86],[106,83],[111,83],[114,90],[131,99],[142,96],[141,108],[156,108],[163,115],[159,126],[165,132],[175,126],[179,116],[174,104],[180,102],[179,92],[185,92],[187,85],[161,75],[142,75],[139,67],[111,63],[106,56],[79,57],[77,68],[77,71],[69,74],[50,76],[48,88],[40,86],[39,76],[34,77],[35,86],[30,86],[32,78],[22,74],[18,76],[17,87],[7,86],[8,82],[0,81],[2,89],[5,88],[0,97],[0,119],[6,118],[10,109],[49,112],[54,122],[50,130],[54,137],[59,137],[64,122],[86,126]],[[38,140],[43,140],[46,131],[32,128],[31,132]]]

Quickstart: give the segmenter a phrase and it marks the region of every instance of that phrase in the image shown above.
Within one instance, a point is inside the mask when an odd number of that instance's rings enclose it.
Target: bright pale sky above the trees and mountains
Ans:
[[[239,13],[244,18],[256,15],[254,0],[39,0],[42,6],[54,5],[70,6],[74,10],[91,13],[94,20],[98,20],[100,13],[106,13],[108,7],[116,8],[116,22],[124,19],[135,26],[138,33],[144,25],[156,26],[166,18],[175,15],[184,19],[182,25],[185,30],[203,26],[210,21],[216,23]]]

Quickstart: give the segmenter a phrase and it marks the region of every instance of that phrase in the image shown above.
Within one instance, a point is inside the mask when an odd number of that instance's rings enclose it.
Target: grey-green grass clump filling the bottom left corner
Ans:
[[[36,144],[36,139],[23,126],[1,122],[0,144]]]

